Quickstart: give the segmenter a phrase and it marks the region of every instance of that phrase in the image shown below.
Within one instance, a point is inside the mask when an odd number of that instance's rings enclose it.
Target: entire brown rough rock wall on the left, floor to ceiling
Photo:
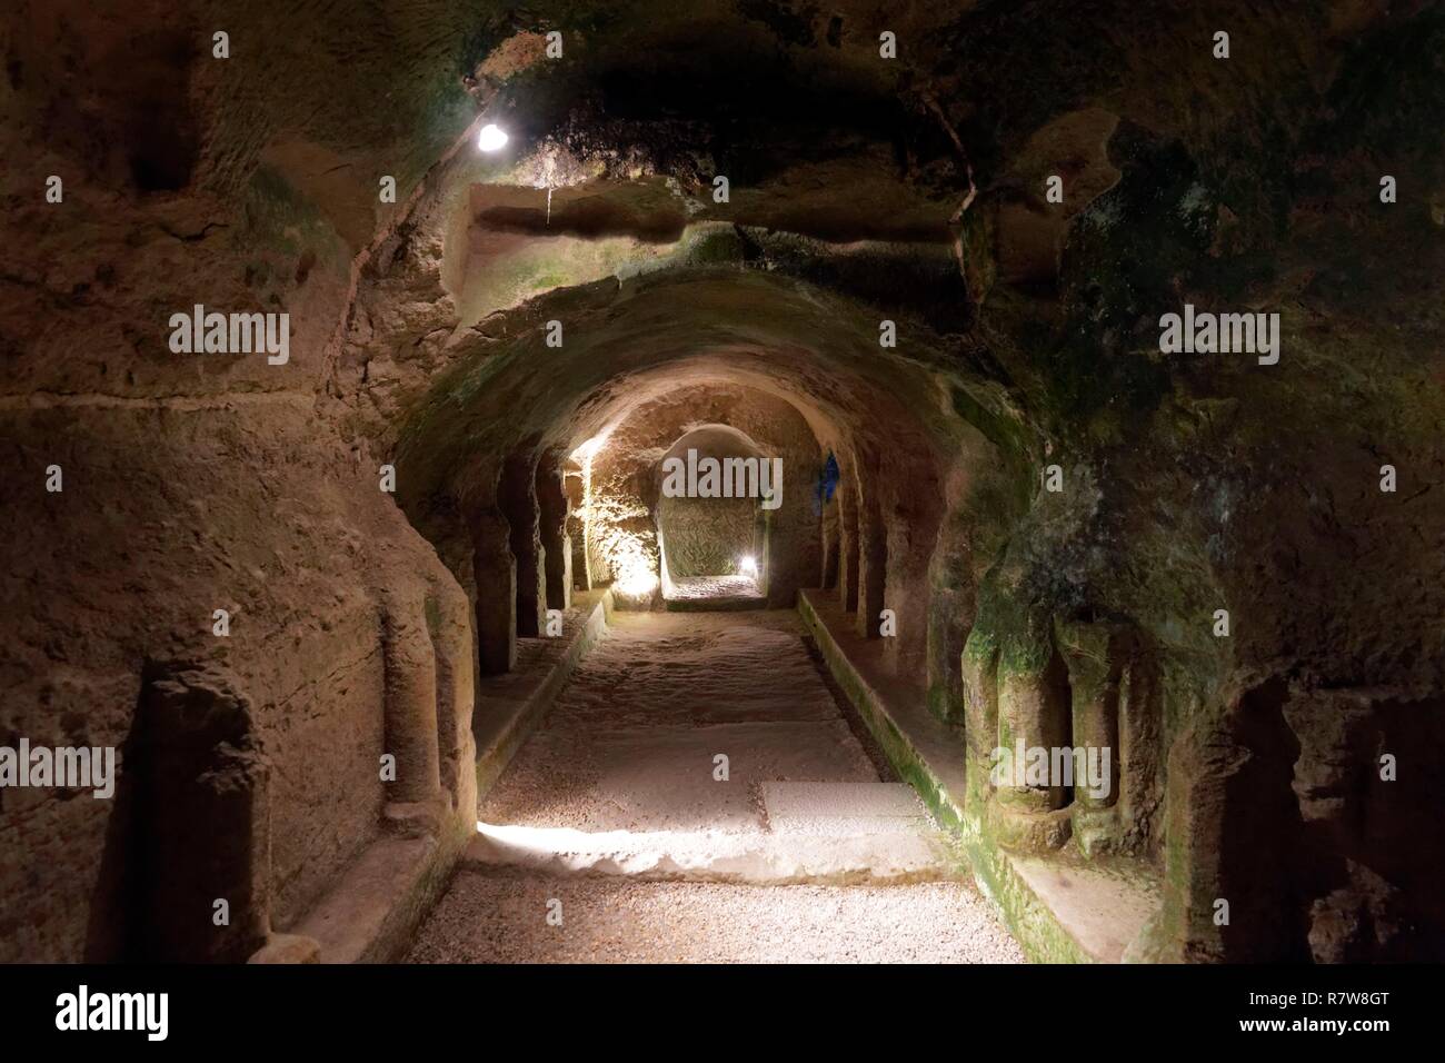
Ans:
[[[405,201],[473,113],[426,42],[445,7],[393,33],[376,16],[335,23],[354,48],[301,56],[318,4],[7,10],[0,126],[6,158],[26,163],[3,178],[0,740],[118,746],[120,791],[4,791],[0,960],[140,947],[124,891],[153,826],[131,817],[126,761],[143,673],[204,665],[244,699],[276,928],[380,829],[380,589],[413,587],[418,623],[425,597],[460,590],[318,396],[353,256],[394,211],[371,171],[394,174]],[[210,55],[215,29],[230,59]],[[396,62],[407,49],[416,62]],[[392,106],[321,88],[340,55],[347,84],[393,84]],[[390,82],[419,69],[451,93]],[[49,174],[59,204],[43,200]],[[172,351],[168,318],[197,302],[288,312],[289,362]]]

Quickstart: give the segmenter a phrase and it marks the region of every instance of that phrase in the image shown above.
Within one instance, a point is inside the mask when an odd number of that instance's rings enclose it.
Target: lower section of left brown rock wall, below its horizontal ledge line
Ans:
[[[3,726],[32,743],[120,746],[124,785],[143,668],[224,665],[253,704],[270,768],[280,927],[377,830],[374,587],[442,573],[368,470],[319,451],[305,402],[247,405],[7,418],[7,477],[29,498],[6,509],[4,597],[27,619],[4,648]],[[43,490],[51,463],[64,470],[59,495]],[[237,476],[243,467],[257,474]],[[214,609],[228,610],[228,638],[212,635]],[[117,869],[146,830],[116,821],[117,807],[6,791],[4,878],[26,884],[6,905],[10,957],[107,957],[104,943],[90,947],[91,905],[117,901]]]

